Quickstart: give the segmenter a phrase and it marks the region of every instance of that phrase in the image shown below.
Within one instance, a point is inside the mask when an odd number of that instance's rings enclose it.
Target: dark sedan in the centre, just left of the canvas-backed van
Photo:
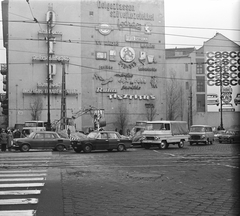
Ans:
[[[72,148],[75,152],[90,153],[93,150],[126,151],[132,146],[132,141],[121,136],[116,131],[93,131],[86,139],[72,140]]]

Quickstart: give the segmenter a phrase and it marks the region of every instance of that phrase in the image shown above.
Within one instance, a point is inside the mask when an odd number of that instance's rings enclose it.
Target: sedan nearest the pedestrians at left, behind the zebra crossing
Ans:
[[[53,131],[35,131],[25,138],[13,139],[12,149],[27,152],[30,149],[53,149],[64,151],[71,147],[68,138],[62,138]]]

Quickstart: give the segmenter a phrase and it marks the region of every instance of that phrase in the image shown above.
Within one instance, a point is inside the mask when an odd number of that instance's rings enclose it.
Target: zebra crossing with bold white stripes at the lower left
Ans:
[[[36,216],[50,159],[0,158],[0,216]]]

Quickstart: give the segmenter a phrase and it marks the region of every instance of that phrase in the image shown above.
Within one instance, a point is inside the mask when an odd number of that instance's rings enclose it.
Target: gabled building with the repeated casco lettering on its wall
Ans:
[[[166,50],[167,74],[174,72],[177,82],[186,87],[185,96],[183,94],[185,109],[180,111],[189,125],[239,127],[239,51],[238,44],[220,33],[216,33],[197,50]],[[186,73],[187,65],[190,73]]]

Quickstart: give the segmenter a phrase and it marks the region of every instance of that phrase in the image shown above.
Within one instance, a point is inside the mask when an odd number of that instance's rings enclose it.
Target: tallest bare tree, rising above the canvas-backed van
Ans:
[[[182,116],[182,94],[182,88],[176,79],[176,73],[172,71],[166,89],[166,113],[168,120],[176,120]]]

